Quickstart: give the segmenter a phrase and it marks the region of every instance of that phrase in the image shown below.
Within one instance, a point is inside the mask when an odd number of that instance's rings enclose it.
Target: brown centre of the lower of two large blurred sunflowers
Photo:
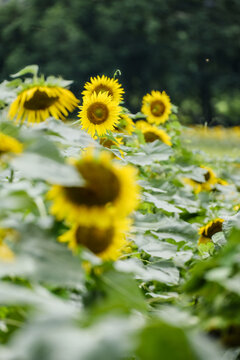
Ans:
[[[76,241],[78,245],[83,245],[94,254],[99,254],[106,250],[112,243],[114,230],[112,227],[99,229],[97,227],[78,226],[76,230]]]

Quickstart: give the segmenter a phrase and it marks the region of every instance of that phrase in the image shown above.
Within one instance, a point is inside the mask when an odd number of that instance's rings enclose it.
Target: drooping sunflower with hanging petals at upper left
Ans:
[[[60,86],[32,85],[21,91],[10,106],[8,116],[17,122],[39,123],[53,116],[64,119],[79,100]]]

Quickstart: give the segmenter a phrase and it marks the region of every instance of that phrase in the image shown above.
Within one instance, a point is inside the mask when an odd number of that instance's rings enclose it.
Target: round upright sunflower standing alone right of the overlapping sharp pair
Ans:
[[[152,91],[143,97],[142,113],[147,116],[151,124],[164,123],[171,114],[171,101],[169,96],[163,91]]]

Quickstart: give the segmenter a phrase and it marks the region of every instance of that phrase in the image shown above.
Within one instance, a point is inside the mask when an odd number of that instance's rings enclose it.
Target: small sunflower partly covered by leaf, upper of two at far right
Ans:
[[[201,166],[205,170],[204,181],[197,181],[189,178],[185,178],[184,182],[193,187],[194,192],[198,194],[201,191],[211,191],[213,187],[218,184],[219,179],[216,177],[213,170],[207,166]]]

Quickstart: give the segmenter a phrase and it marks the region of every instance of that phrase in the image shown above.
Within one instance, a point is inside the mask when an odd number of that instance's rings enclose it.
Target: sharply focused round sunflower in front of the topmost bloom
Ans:
[[[112,101],[107,92],[94,92],[85,96],[83,105],[79,108],[82,127],[92,136],[95,136],[96,132],[99,136],[104,135],[118,123],[120,107],[116,101]]]

